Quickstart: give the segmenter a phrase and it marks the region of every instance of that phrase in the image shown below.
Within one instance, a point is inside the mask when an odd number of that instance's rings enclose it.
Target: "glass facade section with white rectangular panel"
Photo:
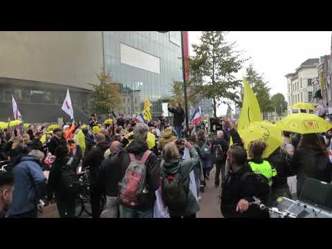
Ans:
[[[158,116],[161,100],[170,94],[173,82],[183,81],[181,32],[105,31],[104,67],[113,80],[138,95],[134,111],[141,111],[147,99]]]

